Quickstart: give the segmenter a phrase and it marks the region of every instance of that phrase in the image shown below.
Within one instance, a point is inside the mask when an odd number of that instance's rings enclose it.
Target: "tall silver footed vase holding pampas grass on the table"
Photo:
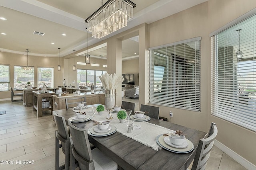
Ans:
[[[108,109],[107,119],[114,119],[111,115],[110,109],[113,109],[116,102],[116,90],[106,89],[105,91],[105,107]]]

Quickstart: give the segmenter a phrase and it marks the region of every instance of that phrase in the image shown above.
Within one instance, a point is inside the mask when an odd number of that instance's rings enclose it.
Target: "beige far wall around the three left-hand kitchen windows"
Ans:
[[[26,55],[17,55],[12,53],[0,52],[0,64],[10,65],[10,86],[13,87],[14,80],[14,66],[27,65]],[[58,58],[52,57],[34,57],[28,55],[28,65],[34,66],[34,86],[37,86],[37,68],[38,67],[51,67],[54,68],[54,86],[62,85],[62,74],[61,71],[57,70]],[[63,67],[62,67],[63,68]],[[0,100],[11,98],[10,91],[0,92]]]

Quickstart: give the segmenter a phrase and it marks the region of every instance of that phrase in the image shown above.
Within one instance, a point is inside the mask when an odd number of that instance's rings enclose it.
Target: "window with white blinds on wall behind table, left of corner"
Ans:
[[[150,103],[200,111],[200,39],[149,49]]]

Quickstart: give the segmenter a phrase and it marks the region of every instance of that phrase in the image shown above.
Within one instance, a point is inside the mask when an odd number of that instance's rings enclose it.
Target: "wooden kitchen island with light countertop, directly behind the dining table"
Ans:
[[[52,95],[52,103],[53,103],[53,110],[60,110],[60,109],[66,109],[66,102],[65,99],[69,98],[78,98],[78,97],[85,97],[86,98],[86,105],[92,105],[92,104],[105,104],[105,94],[102,92],[96,92],[94,94],[87,92],[87,93],[81,93],[79,95],[74,94],[68,94],[66,96],[56,96]],[[78,101],[81,102],[81,101]]]

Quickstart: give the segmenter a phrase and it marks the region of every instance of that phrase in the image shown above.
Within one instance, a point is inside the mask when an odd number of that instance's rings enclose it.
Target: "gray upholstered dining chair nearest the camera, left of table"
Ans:
[[[90,149],[87,131],[72,125],[68,121],[71,137],[70,168],[76,168],[75,161],[78,161],[81,170],[117,170],[118,165],[111,158],[104,155],[98,148]]]

